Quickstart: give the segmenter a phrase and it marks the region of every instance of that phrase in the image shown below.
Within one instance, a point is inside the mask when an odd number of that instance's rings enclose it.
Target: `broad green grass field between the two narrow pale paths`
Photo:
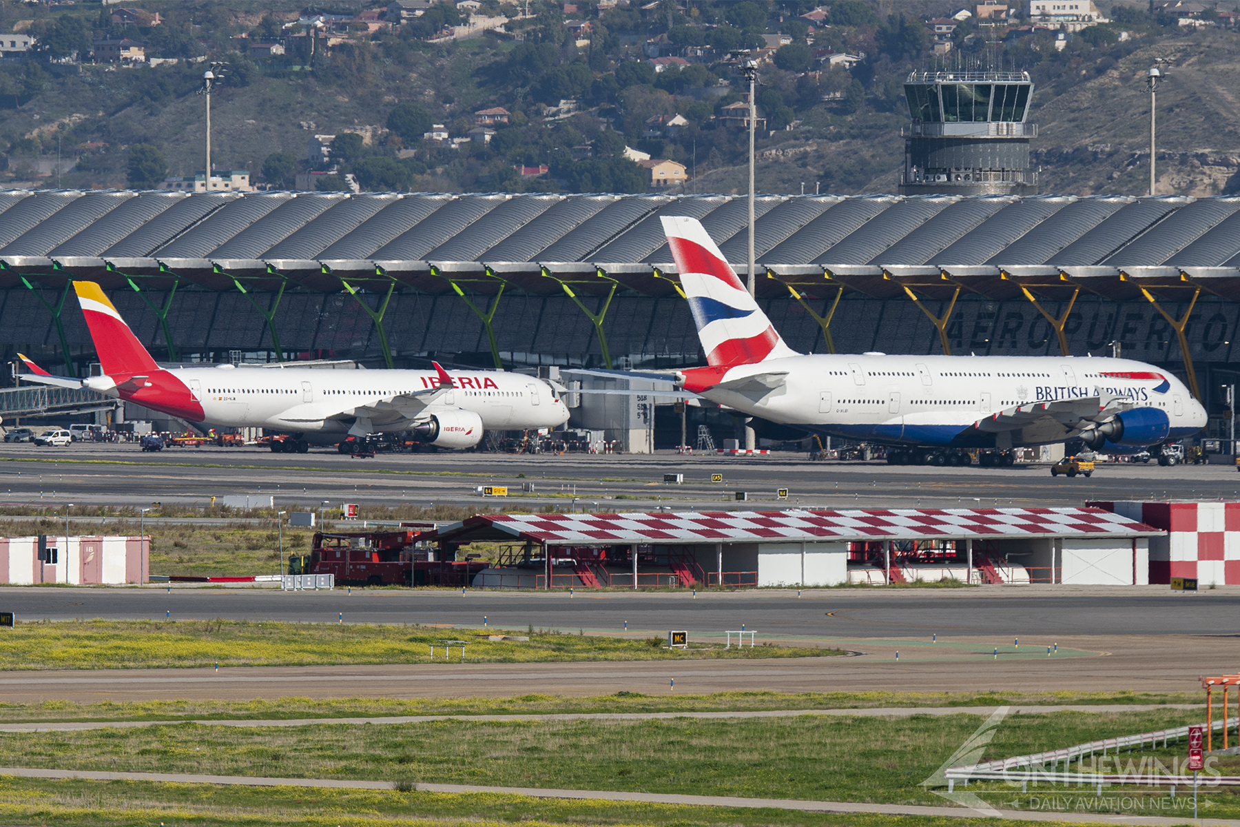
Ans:
[[[1200,712],[1012,715],[986,759],[1200,720]],[[0,733],[9,766],[940,803],[920,785],[977,715],[470,722]],[[1169,763],[1184,745],[1159,750]],[[1146,755],[1151,753],[1147,750]],[[997,792],[1012,795],[1011,789]]]

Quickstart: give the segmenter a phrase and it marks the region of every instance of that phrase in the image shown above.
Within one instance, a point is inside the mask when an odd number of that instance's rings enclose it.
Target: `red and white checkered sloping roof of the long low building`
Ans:
[[[1101,508],[870,508],[620,515],[477,515],[420,539],[613,543],[781,543],[883,539],[1016,539],[1162,534]]]

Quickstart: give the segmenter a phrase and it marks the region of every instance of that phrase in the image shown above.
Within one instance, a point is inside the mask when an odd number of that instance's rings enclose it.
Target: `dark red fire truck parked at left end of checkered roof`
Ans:
[[[486,563],[434,559],[434,547],[417,539],[433,528],[317,532],[305,573],[335,574],[339,585],[470,585]]]

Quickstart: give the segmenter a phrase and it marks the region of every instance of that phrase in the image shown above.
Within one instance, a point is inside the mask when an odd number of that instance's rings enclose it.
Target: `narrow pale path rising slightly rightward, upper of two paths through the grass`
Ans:
[[[146,727],[176,727],[201,724],[203,727],[233,727],[255,729],[260,727],[357,727],[362,724],[430,724],[440,720],[469,720],[485,723],[544,723],[548,720],[672,720],[694,718],[699,720],[719,718],[800,718],[802,715],[833,715],[848,718],[908,718],[910,715],[990,715],[998,707],[867,707],[863,709],[761,709],[748,712],[568,712],[546,715],[386,715],[352,718],[242,718],[213,719],[186,718],[179,720],[69,720],[0,724],[0,733],[78,733],[89,729],[143,729]],[[1066,704],[1066,705],[1012,705],[1013,715],[1035,715],[1053,712],[1084,712],[1102,714],[1109,712],[1152,712],[1154,709],[1205,709],[1204,703],[1168,704]]]

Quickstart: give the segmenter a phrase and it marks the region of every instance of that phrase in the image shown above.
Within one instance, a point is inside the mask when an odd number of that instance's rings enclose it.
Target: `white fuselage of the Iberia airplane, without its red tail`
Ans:
[[[487,430],[554,428],[568,409],[542,379],[503,371],[453,371],[458,387],[439,387],[434,371],[332,371],[231,365],[167,372],[201,403],[202,422],[232,428],[341,434],[341,415],[365,417],[373,431],[394,431],[436,410],[476,413]],[[422,392],[420,397],[404,397]]]

